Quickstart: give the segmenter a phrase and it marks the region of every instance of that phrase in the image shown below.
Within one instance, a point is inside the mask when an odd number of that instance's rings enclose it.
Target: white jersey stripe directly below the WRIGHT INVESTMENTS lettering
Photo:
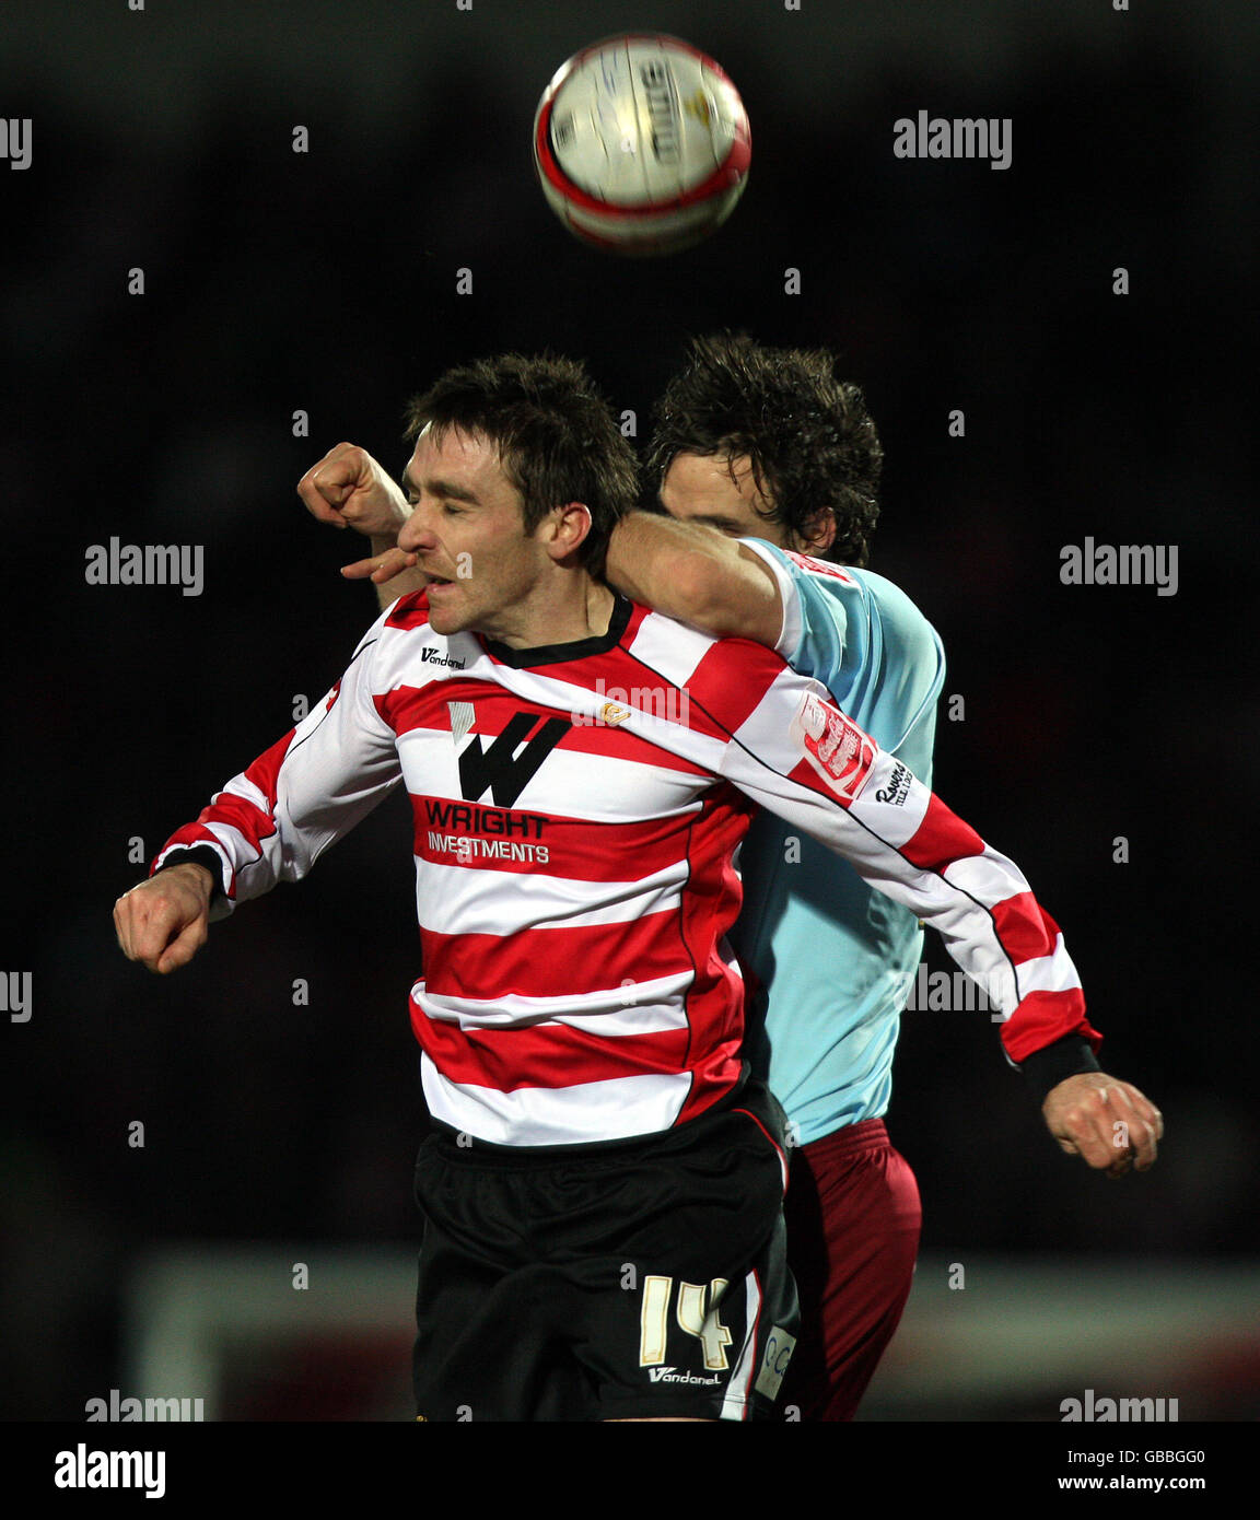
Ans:
[[[433,833],[442,830],[435,828]],[[502,936],[526,929],[628,924],[651,914],[676,910],[689,876],[685,860],[641,882],[565,880],[537,869],[476,869],[482,863],[476,854],[468,857],[467,866],[436,865],[416,857],[416,917],[421,929],[435,935]],[[499,883],[502,891],[494,889]]]

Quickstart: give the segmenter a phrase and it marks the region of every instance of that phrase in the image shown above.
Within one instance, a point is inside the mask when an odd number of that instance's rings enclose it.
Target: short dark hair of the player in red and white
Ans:
[[[553,506],[582,502],[591,530],[579,558],[602,573],[617,518],[638,505],[638,461],[584,365],[558,354],[459,365],[407,404],[407,438],[430,424],[438,441],[457,429],[497,447],[527,532]]]

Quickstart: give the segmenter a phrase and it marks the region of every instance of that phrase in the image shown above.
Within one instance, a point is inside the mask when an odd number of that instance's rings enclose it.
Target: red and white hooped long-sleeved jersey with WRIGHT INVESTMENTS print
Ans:
[[[743,988],[723,936],[757,806],[938,929],[1009,1015],[1012,1059],[1097,1040],[1012,862],[772,651],[622,599],[608,634],[527,651],[436,634],[424,596],[401,599],[154,869],[211,845],[222,917],[302,877],[400,780],[424,970],[412,1026],[430,1113],[457,1131],[623,1138],[731,1090]]]

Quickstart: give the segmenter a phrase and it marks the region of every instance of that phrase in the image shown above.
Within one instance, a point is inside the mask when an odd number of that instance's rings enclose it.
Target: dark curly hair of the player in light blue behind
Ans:
[[[837,380],[825,350],[765,348],[746,333],[696,337],[654,410],[647,471],[657,488],[676,454],[746,458],[790,547],[836,518],[825,558],[865,565],[880,515],[883,447],[866,400]],[[734,471],[731,474],[734,479]]]

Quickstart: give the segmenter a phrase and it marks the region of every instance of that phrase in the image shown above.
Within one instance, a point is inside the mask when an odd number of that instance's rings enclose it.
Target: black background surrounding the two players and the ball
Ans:
[[[529,129],[564,58],[644,27],[723,64],[752,173],[710,243],[640,263],[565,236]],[[33,120],[32,166],[0,163],[3,958],[33,977],[3,1024],[9,1418],[119,1386],[155,1249],[418,1236],[406,803],[175,979],[122,958],[109,910],[131,841],[150,857],[372,617],[301,473],[342,438],[400,467],[406,397],[508,348],[585,357],[640,436],[689,334],[842,356],[888,454],[872,567],[965,698],[936,789],[1023,866],[1106,1069],[1169,1128],[1149,1175],[1087,1175],[983,1014],[909,1014],[889,1126],[924,1249],[1254,1262],[1258,32],[1248,0],[9,0],[0,111]],[[918,109],[1011,117],[1012,167],[895,158]],[[204,593],[87,585],[111,535],[202,544]],[[1178,544],[1176,596],[1062,585],[1087,535]]]

